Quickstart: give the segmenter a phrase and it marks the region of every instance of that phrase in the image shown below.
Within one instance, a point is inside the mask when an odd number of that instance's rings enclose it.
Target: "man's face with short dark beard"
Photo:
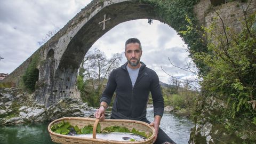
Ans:
[[[138,43],[130,43],[126,45],[125,57],[132,67],[138,66],[142,51]]]

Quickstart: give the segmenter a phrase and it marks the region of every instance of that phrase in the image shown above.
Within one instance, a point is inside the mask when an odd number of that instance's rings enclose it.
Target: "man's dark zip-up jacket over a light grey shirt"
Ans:
[[[154,115],[163,116],[164,100],[159,78],[154,70],[147,68],[143,62],[141,64],[134,87],[126,68],[127,62],[110,73],[100,102],[105,101],[109,106],[113,93],[116,92],[111,118],[137,121],[146,119],[149,92],[153,98]]]

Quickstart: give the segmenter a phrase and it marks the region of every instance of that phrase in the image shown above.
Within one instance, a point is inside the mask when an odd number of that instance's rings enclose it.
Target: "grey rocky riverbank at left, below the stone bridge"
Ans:
[[[95,108],[71,97],[65,97],[50,107],[34,101],[35,95],[15,87],[0,88],[0,125],[53,121],[66,116],[93,117]]]

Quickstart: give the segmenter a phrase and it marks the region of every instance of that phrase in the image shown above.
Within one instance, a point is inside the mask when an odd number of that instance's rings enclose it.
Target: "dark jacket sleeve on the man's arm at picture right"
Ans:
[[[164,99],[159,84],[159,78],[155,72],[151,79],[150,92],[153,99],[154,116],[159,115],[162,117],[164,113]]]

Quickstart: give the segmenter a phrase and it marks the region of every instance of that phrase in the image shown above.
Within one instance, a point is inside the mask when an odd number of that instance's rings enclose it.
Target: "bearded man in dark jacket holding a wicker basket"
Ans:
[[[128,39],[124,53],[127,62],[111,71],[95,117],[101,121],[105,119],[106,108],[116,92],[111,119],[132,119],[149,123],[156,132],[154,143],[175,143],[159,128],[164,113],[164,99],[157,74],[140,61],[142,47],[139,39]],[[151,123],[146,118],[149,92],[154,106],[154,121]]]

